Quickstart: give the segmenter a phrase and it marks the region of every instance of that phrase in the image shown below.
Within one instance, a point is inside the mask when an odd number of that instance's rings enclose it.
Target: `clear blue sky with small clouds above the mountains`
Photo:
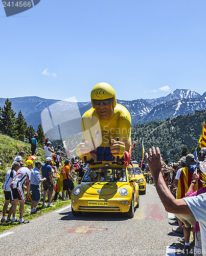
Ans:
[[[101,81],[125,100],[203,94],[205,9],[205,0],[41,0],[6,17],[0,3],[0,97],[88,101]]]

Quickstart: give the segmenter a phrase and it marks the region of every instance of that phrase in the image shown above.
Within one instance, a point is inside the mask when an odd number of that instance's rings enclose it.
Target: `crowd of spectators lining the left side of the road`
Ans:
[[[37,147],[37,137],[38,134],[35,134],[31,138],[31,156],[23,161],[22,158],[25,157],[25,152],[20,151],[6,173],[3,184],[5,204],[1,223],[29,223],[23,217],[25,201],[30,201],[31,214],[36,214],[43,207],[55,207],[54,202],[59,199],[63,201],[68,198],[71,199],[75,182],[74,177],[76,175],[83,177],[84,175],[85,170],[83,168],[87,165],[75,157],[66,159],[66,154],[61,151],[61,145],[55,151],[52,143],[48,140],[49,137],[44,141],[45,145],[43,147],[45,162],[42,163],[38,160],[34,155]],[[42,201],[42,204],[37,207],[40,201]],[[19,219],[16,218],[18,203]],[[9,204],[11,204],[11,207],[6,218]]]

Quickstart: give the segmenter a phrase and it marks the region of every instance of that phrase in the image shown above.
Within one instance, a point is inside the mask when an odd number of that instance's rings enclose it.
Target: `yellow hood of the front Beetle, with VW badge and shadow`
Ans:
[[[123,185],[122,183],[123,182],[97,181],[97,182],[90,182],[90,183],[82,182],[81,185],[86,194],[103,196],[103,195],[111,195],[113,193],[116,193],[117,189]]]

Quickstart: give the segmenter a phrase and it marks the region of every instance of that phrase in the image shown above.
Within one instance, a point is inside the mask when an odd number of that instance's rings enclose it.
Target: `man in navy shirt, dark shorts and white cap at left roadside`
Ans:
[[[55,207],[55,205],[53,205],[52,202],[52,198],[54,195],[54,180],[52,177],[52,166],[51,166],[51,162],[52,162],[52,158],[51,157],[47,157],[46,159],[46,163],[42,164],[41,167],[41,172],[42,172],[42,177],[46,178],[45,181],[43,181],[43,204],[42,207],[45,206],[45,200],[46,200],[46,196],[48,193],[48,205],[47,207]]]

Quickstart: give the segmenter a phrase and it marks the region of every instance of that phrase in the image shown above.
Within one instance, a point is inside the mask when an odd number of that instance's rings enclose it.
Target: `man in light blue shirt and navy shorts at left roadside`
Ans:
[[[43,163],[41,161],[39,160],[36,161],[35,167],[31,171],[31,185],[30,185],[30,189],[32,191],[31,214],[36,213],[36,207],[41,199],[39,184],[40,182],[47,180],[47,178],[42,179],[39,173],[39,170],[41,169],[42,164]]]

